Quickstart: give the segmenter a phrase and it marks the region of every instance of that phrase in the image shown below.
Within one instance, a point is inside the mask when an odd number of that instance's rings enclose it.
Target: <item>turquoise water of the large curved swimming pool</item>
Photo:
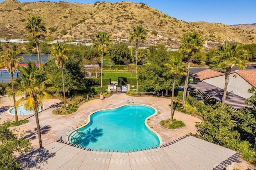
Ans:
[[[144,121],[155,110],[144,105],[126,105],[118,109],[98,111],[90,116],[90,123],[73,132],[69,142],[86,148],[110,151],[137,150],[154,147],[159,138]]]

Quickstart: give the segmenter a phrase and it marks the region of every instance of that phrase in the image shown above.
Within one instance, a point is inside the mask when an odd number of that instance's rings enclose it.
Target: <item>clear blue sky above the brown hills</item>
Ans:
[[[3,0],[0,0],[2,2]],[[36,2],[39,0],[18,0]],[[44,0],[48,1],[48,0]],[[59,2],[59,0],[50,0]],[[90,4],[100,0],[62,0]],[[121,0],[104,0],[122,2]],[[256,0],[129,0],[155,8],[164,14],[186,22],[205,21],[227,25],[256,23]],[[100,1],[101,2],[101,1]]]

